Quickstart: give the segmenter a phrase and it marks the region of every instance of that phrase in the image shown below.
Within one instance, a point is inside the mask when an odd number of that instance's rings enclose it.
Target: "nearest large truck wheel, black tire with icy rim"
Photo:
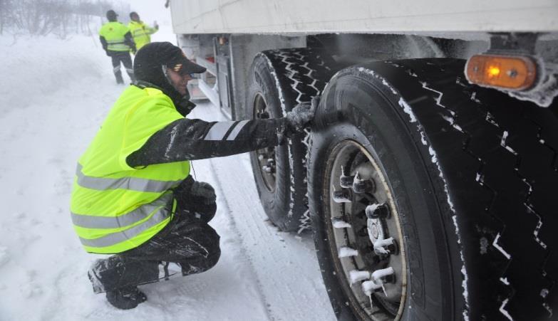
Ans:
[[[549,320],[558,308],[557,104],[469,85],[463,68],[366,63],[324,90],[309,206],[339,320]]]

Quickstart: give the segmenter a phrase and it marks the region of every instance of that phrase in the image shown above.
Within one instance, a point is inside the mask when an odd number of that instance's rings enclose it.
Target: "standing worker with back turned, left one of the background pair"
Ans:
[[[118,14],[113,10],[107,11],[108,22],[99,31],[99,39],[107,56],[113,60],[113,73],[116,83],[124,83],[120,72],[120,63],[126,68],[132,82],[135,81],[130,51],[135,53],[135,43],[132,33],[123,23],[116,21]]]

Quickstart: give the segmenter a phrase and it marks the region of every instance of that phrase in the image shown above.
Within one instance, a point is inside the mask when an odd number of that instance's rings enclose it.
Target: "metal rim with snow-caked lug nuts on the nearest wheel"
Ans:
[[[407,284],[403,233],[378,164],[353,140],[332,149],[324,186],[326,225],[335,272],[356,315],[399,320]]]

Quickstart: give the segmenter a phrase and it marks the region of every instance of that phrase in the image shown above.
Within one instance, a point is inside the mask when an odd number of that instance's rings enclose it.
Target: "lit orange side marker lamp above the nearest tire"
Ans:
[[[524,90],[533,85],[537,66],[523,56],[475,55],[467,60],[465,73],[477,85]]]

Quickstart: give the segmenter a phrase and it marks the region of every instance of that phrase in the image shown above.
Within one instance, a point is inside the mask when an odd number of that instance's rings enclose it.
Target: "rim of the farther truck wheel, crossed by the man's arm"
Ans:
[[[257,93],[254,98],[254,119],[267,119],[269,118],[269,111],[267,110],[267,103],[261,93]],[[275,191],[275,173],[277,171],[277,162],[275,159],[275,148],[267,147],[256,150],[256,157],[259,163],[259,175],[262,177],[264,184],[269,192]]]

